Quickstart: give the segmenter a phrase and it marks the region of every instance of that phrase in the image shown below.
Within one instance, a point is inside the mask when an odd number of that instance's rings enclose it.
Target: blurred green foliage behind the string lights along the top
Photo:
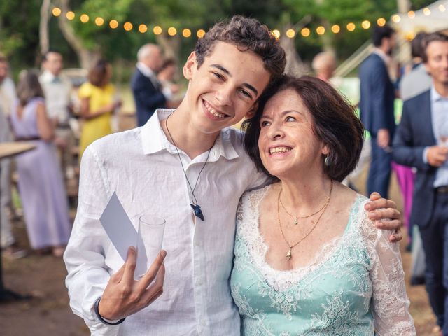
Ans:
[[[412,9],[432,2],[412,0]],[[58,0],[52,3],[57,6]],[[0,0],[0,51],[10,57],[13,65],[31,67],[38,64],[40,6],[40,0]],[[360,29],[360,22],[370,20],[374,23],[379,17],[388,19],[395,13],[397,5],[395,0],[71,0],[69,6],[76,13],[70,24],[85,48],[99,50],[111,61],[124,60],[125,64],[133,64],[138,48],[155,41],[152,31],[155,25],[164,29],[176,27],[178,34],[183,28],[192,30],[192,37],[180,38],[180,59],[184,59],[194,48],[197,29],[208,29],[217,20],[235,14],[258,18],[271,29],[283,32],[287,25],[295,25],[310,15],[306,27],[311,29],[311,36],[304,38],[298,34],[295,38],[300,57],[309,61],[325,43],[330,43],[338,58],[344,59],[370,37],[371,30]],[[79,20],[82,13],[90,15],[86,24]],[[104,25],[95,25],[96,17],[103,18]],[[109,21],[112,19],[118,20],[120,27],[111,29]],[[132,31],[123,29],[123,23],[127,21],[134,25]],[[346,31],[344,27],[349,22],[357,25],[355,31]],[[138,31],[138,25],[142,23],[149,28],[144,34]],[[342,27],[339,34],[329,31],[333,24]],[[316,34],[318,25],[326,27],[327,38]],[[65,41],[54,17],[50,19],[50,48],[60,50],[69,66],[78,66],[76,54]]]

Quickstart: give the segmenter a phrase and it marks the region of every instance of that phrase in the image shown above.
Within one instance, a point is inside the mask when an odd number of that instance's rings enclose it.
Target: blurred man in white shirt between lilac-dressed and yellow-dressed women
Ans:
[[[48,51],[42,59],[43,73],[39,77],[48,117],[55,125],[55,144],[61,153],[62,172],[68,178],[74,175],[71,165],[71,148],[74,145],[73,132],[69,125],[71,111],[71,83],[61,76],[62,55],[57,51]]]

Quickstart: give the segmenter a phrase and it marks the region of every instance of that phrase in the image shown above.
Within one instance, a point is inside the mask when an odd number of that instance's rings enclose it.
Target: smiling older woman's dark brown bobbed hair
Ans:
[[[267,101],[283,90],[294,90],[311,113],[316,137],[328,146],[328,163],[322,158],[323,172],[332,180],[342,181],[359,160],[363,148],[364,127],[356,115],[356,109],[342,97],[330,84],[318,78],[303,76],[294,78],[283,76],[270,85],[260,97],[260,105],[251,119],[243,123],[246,131],[244,146],[255,162],[258,170],[267,172],[262,165],[258,138],[260,137],[260,118]]]

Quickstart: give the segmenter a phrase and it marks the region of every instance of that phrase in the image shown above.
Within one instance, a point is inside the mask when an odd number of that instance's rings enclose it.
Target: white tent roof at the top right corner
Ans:
[[[408,40],[419,31],[432,33],[448,29],[448,1],[435,1],[430,6],[416,10],[414,13],[393,15],[392,21],[393,27]]]

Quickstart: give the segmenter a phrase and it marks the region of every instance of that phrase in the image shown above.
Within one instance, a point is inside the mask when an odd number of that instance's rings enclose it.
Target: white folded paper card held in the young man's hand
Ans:
[[[137,248],[139,235],[115,192],[107,203],[106,209],[104,209],[99,221],[102,223],[107,236],[111,239],[113,246],[115,246],[124,262],[127,258],[128,248],[130,246]],[[145,272],[146,255],[140,253],[140,255],[137,255],[135,274],[144,274]]]

